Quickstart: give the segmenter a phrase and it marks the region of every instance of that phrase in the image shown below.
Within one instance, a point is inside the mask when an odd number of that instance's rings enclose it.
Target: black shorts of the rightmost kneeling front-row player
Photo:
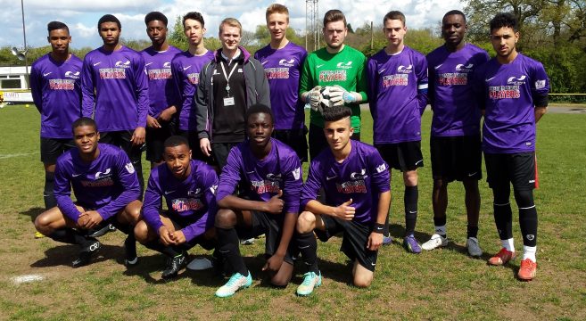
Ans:
[[[370,251],[367,249],[368,236],[372,232],[371,226],[365,226],[354,221],[332,218],[326,215],[322,215],[321,218],[326,226],[326,231],[314,230],[316,235],[318,235],[319,241],[326,242],[330,237],[343,232],[340,251],[343,251],[352,261],[358,260],[362,267],[374,272],[378,251]]]

